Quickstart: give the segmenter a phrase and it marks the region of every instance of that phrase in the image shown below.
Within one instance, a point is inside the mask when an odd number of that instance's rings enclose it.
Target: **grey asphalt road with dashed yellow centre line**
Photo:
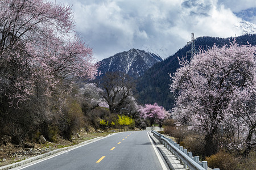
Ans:
[[[126,131],[17,169],[166,169],[150,140],[147,131]]]

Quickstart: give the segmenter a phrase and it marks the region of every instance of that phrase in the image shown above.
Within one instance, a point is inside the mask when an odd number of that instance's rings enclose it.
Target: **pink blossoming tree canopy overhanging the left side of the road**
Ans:
[[[93,79],[98,69],[93,59],[92,49],[75,33],[70,6],[0,1],[0,97],[10,105],[49,96],[57,87],[69,91],[77,76]]]

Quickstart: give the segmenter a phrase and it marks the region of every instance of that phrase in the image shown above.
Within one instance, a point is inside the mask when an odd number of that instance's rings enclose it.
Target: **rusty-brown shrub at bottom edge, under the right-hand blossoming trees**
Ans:
[[[233,155],[219,151],[217,154],[206,157],[210,168],[220,168],[221,170],[236,170],[238,169],[238,161]]]

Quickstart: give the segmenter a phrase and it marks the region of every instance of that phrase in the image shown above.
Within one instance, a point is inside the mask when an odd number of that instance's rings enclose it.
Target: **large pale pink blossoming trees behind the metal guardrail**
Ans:
[[[177,93],[172,116],[200,131],[207,155],[217,151],[213,138],[220,131],[232,134],[230,146],[247,156],[255,145],[256,48],[230,45],[200,50],[171,76]]]

